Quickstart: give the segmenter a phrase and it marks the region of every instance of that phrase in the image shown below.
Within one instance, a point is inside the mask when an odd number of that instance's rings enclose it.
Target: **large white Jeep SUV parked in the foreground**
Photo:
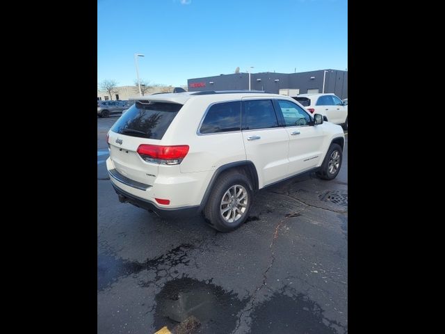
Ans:
[[[332,180],[344,145],[338,125],[257,91],[138,97],[107,136],[121,202],[167,217],[202,212],[221,232],[248,218],[259,189],[308,170]]]

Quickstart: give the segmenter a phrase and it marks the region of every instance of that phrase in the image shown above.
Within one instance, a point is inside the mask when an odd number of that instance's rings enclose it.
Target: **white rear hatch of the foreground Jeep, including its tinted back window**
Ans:
[[[183,105],[173,102],[136,101],[111,127],[108,138],[115,169],[131,180],[153,185],[159,164],[138,154],[141,144],[160,145]]]

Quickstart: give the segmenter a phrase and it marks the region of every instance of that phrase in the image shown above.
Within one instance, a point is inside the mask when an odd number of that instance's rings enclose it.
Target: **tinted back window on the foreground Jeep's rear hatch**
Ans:
[[[111,131],[126,136],[162,139],[182,106],[170,102],[136,101],[115,122]]]

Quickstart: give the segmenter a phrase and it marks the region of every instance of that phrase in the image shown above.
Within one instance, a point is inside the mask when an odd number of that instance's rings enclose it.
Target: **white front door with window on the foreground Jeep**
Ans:
[[[322,159],[323,129],[314,126],[309,113],[288,100],[275,100],[282,124],[289,134],[289,174],[314,168]]]

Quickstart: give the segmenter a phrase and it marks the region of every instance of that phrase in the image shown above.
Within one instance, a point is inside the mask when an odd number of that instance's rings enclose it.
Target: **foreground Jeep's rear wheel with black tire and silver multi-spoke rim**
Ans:
[[[236,186],[238,186],[238,188],[236,188]],[[242,186],[242,188],[239,186]],[[230,205],[237,205],[236,202],[232,202],[223,207],[223,205],[225,204],[222,203],[223,199],[227,198],[227,191],[229,191],[229,189],[233,189],[233,187],[235,187],[235,190],[241,190],[241,197],[243,196],[243,193],[245,191],[245,193],[247,194],[247,199],[245,200],[245,202],[242,203],[245,205],[245,211],[241,214],[238,213],[241,212],[239,209],[235,209],[235,211],[233,211],[234,213],[231,213],[230,211],[232,210],[229,209],[229,212],[227,212],[227,216],[232,215],[233,218],[236,218],[236,216],[240,215],[238,218],[234,219],[234,221],[230,222],[227,221],[225,217],[223,217],[221,211],[229,208]],[[231,200],[230,198],[228,199]],[[236,200],[236,198],[234,200]],[[207,205],[204,207],[204,218],[206,218],[207,222],[211,225],[212,228],[220,232],[230,232],[236,230],[241,225],[243,225],[245,220],[248,218],[250,207],[252,207],[252,200],[252,182],[250,182],[248,177],[239,173],[238,171],[223,173],[218,177],[218,180],[216,180],[215,184],[213,185],[213,189],[210,193]]]

